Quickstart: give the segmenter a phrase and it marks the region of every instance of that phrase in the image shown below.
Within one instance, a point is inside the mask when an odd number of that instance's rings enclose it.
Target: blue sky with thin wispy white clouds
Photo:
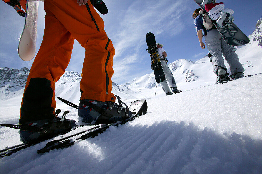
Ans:
[[[72,0],[76,1],[76,0]],[[105,31],[116,50],[114,56],[113,82],[125,84],[135,77],[152,72],[150,58],[146,52],[146,33],[155,34],[156,42],[164,44],[168,63],[178,59],[196,61],[208,50],[202,50],[196,35],[193,11],[198,5],[193,0],[104,0],[109,10],[101,17]],[[262,1],[224,0],[225,8],[234,10],[234,23],[247,36],[255,30],[256,22],[262,17]],[[33,60],[25,62],[17,53],[24,18],[11,6],[0,1],[0,67],[31,68]],[[37,28],[37,50],[44,29],[43,2],[39,2]],[[85,49],[75,40],[71,61],[66,71],[82,71]],[[204,71],[204,70],[203,70]]]

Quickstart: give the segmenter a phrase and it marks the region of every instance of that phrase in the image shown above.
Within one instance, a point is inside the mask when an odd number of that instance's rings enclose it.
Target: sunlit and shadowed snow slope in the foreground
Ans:
[[[261,80],[257,74],[147,99],[146,115],[65,149],[37,154],[47,141],[23,149],[0,159],[1,173],[261,173]],[[10,108],[0,108],[1,119]],[[76,109],[57,108],[78,120]],[[19,109],[4,121],[17,123]],[[1,149],[21,143],[17,132],[0,128]]]

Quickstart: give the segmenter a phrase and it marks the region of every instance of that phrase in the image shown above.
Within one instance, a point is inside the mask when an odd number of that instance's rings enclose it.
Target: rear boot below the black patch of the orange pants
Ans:
[[[75,126],[75,120],[54,117],[52,119],[26,122],[21,126],[29,127],[29,130],[19,130],[20,140],[25,144],[34,144],[70,131]]]

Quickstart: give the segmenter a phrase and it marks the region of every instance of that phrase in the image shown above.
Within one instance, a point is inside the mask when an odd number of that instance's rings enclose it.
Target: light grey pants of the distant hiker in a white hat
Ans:
[[[161,65],[166,76],[165,80],[161,82],[161,86],[164,92],[168,93],[171,92],[170,88],[177,87],[177,84],[165,60],[161,60]],[[167,82],[169,83],[169,86],[167,85]]]

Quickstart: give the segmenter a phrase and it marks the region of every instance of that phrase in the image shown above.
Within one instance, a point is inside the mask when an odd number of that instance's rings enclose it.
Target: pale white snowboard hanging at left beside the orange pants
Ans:
[[[38,0],[27,0],[25,25],[18,45],[18,55],[24,61],[32,60],[36,53],[37,17]]]

